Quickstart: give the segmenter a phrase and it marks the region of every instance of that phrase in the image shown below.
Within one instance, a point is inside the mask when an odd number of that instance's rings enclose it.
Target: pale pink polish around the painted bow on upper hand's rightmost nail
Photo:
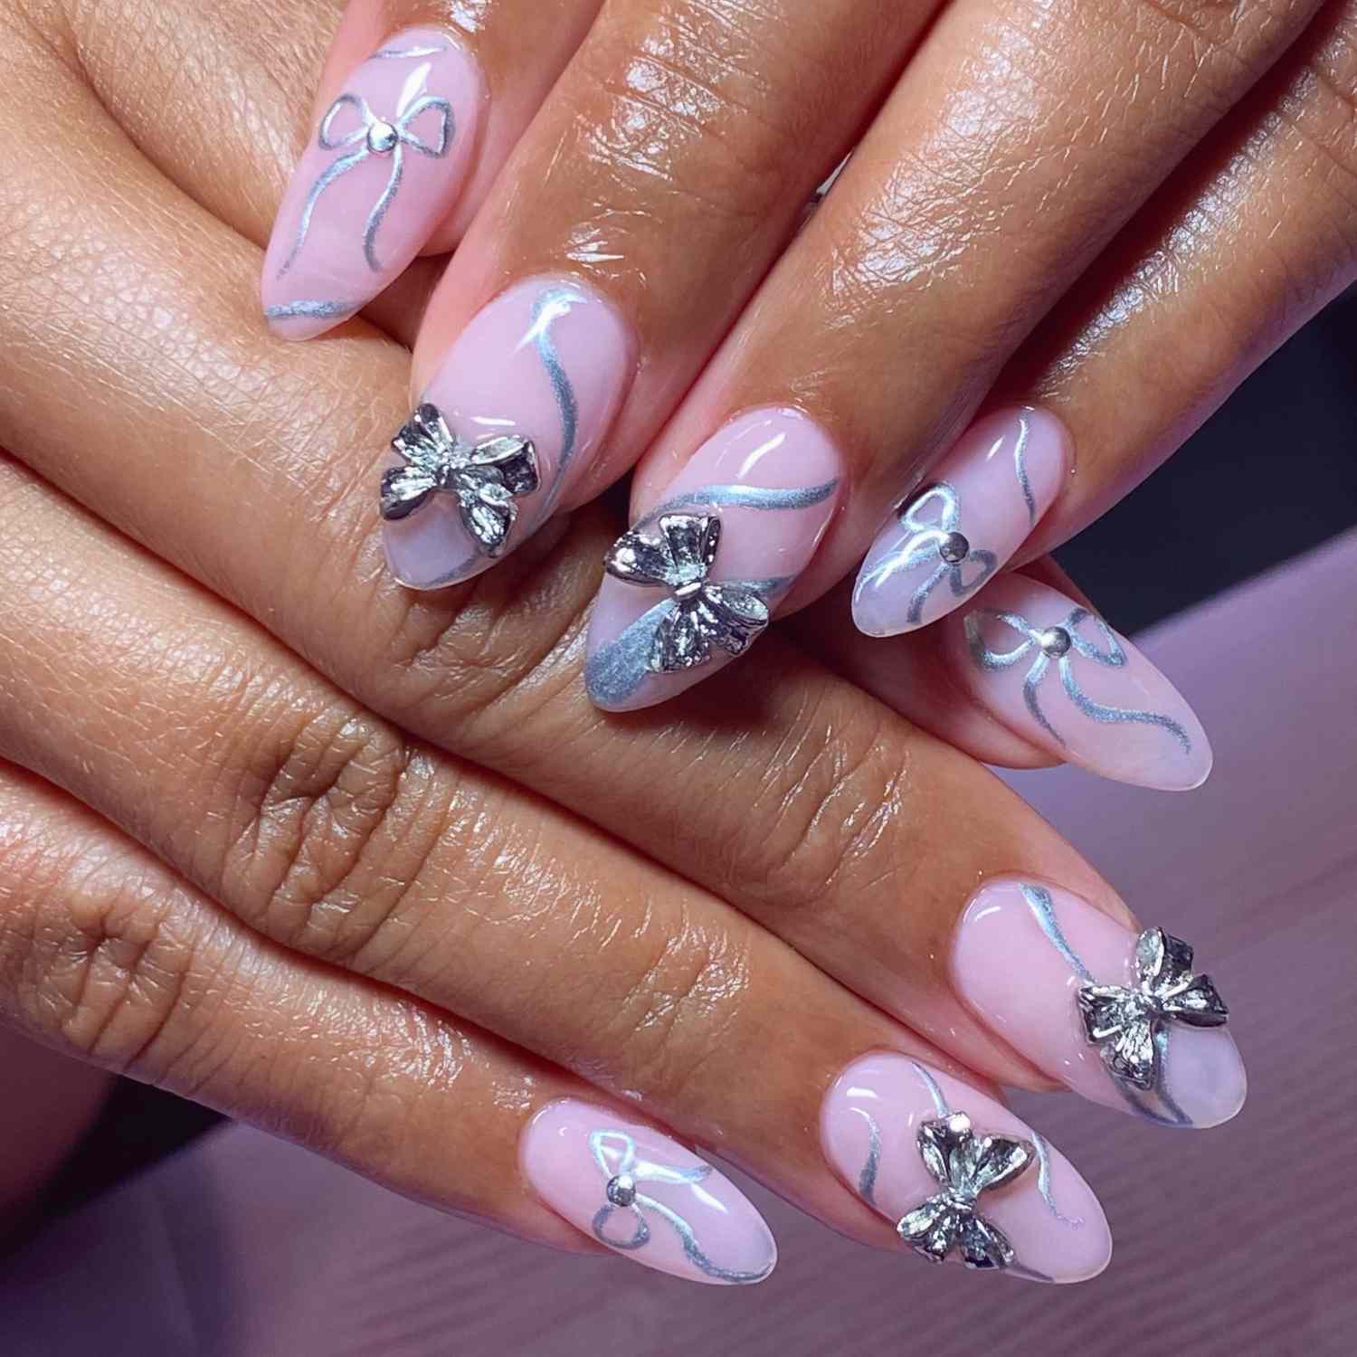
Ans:
[[[1019,444],[1033,498],[1031,509],[1018,476],[1015,452]],[[927,484],[946,483],[951,487],[958,508],[954,531],[966,537],[973,551],[992,552],[993,570],[999,570],[1054,502],[1069,461],[1069,436],[1054,415],[1030,406],[996,410],[961,437]],[[911,502],[917,494],[909,497]],[[938,508],[935,498],[925,506],[921,521],[935,522]],[[936,552],[930,552],[923,562],[904,566],[900,558],[912,554],[908,550],[911,544],[928,543],[920,543],[920,533],[906,528],[900,514],[894,513],[863,562],[854,588],[852,615],[859,631],[868,636],[896,636],[927,627],[959,608],[970,597],[969,586],[984,579],[982,563],[962,563],[961,584],[968,592],[958,597],[951,589],[953,577],[949,573],[928,593],[919,622],[911,622],[908,615],[915,592],[942,565]]]

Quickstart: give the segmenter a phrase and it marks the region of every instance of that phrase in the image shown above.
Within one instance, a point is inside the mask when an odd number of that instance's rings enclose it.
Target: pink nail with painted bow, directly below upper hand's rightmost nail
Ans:
[[[991,581],[978,605],[944,627],[962,684],[1038,748],[1162,791],[1206,780],[1210,744],[1191,707],[1098,613],[1011,574]]]

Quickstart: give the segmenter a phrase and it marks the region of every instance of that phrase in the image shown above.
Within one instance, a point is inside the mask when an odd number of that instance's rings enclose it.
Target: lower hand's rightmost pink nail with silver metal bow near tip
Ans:
[[[1159,928],[1137,935],[1068,890],[996,881],[966,906],[951,968],[982,1022],[1084,1098],[1198,1129],[1244,1103],[1228,1010]]]

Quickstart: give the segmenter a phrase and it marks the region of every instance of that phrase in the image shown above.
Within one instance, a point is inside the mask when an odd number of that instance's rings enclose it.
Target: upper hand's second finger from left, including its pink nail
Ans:
[[[452,495],[406,474],[407,494],[383,505],[399,579],[467,579],[632,464],[934,7],[604,9],[430,301],[415,389],[446,429],[398,445],[404,461],[456,468],[461,444],[508,433],[531,464],[489,489],[478,471]]]

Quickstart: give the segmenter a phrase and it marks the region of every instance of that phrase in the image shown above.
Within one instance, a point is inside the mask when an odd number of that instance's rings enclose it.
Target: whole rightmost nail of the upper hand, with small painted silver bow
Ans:
[[[957,608],[1026,541],[1068,467],[1069,436],[1045,410],[973,425],[867,554],[852,596],[858,630],[896,636]]]

